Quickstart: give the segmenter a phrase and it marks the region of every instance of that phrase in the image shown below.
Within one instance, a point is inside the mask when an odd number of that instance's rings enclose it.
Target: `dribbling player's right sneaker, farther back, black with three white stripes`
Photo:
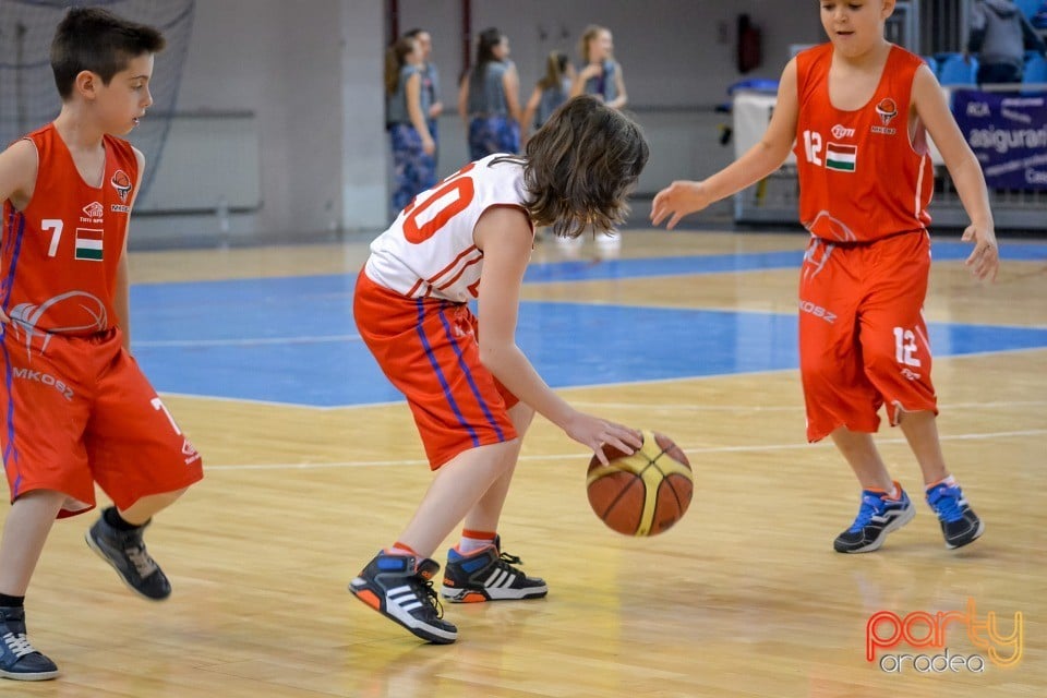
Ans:
[[[514,565],[519,557],[503,553],[493,545],[462,555],[457,549],[447,551],[444,586],[440,593],[452,603],[541,599],[549,593],[544,579],[528,577]]]

